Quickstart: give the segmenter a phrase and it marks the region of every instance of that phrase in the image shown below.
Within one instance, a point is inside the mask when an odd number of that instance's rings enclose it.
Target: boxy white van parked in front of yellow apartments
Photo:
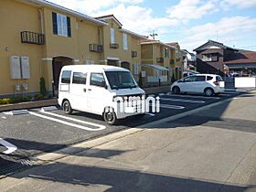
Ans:
[[[143,114],[133,106],[133,112],[120,112],[116,97],[144,97],[128,69],[106,65],[64,66],[59,76],[59,105],[66,113],[73,110],[102,115],[105,122]]]

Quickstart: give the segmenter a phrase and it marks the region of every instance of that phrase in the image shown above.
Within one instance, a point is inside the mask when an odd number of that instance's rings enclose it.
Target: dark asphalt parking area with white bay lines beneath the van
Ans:
[[[227,100],[245,92],[229,91],[214,97],[203,95],[173,95],[160,93],[161,110],[147,113],[144,118],[124,119],[119,125],[107,125],[101,116],[61,110],[41,112],[28,109],[27,114],[0,113],[0,176],[17,168],[33,165],[33,156],[55,151],[108,133],[155,122],[165,117],[187,112],[210,103]]]

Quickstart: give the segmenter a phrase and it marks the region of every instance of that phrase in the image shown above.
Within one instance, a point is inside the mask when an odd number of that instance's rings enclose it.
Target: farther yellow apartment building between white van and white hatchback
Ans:
[[[169,83],[174,68],[175,48],[159,40],[146,40],[141,43],[141,49],[144,83]]]

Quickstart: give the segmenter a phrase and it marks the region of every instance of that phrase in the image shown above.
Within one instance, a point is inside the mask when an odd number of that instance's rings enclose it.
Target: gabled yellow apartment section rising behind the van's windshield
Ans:
[[[100,16],[97,19],[106,22],[103,27],[103,55],[101,63],[129,69],[135,80],[139,80],[141,70],[141,40],[147,37],[138,35],[123,28],[120,21],[113,15]]]

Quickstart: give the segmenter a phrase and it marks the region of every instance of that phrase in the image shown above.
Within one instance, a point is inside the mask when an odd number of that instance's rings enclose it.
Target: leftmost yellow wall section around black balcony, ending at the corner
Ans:
[[[29,30],[40,33],[39,12],[36,7],[16,1],[1,0],[0,5],[0,95],[14,94],[16,84],[28,84],[28,91],[38,91],[41,75],[41,58],[44,46],[22,44],[20,32]],[[30,79],[11,80],[9,59],[11,56],[28,56]]]

